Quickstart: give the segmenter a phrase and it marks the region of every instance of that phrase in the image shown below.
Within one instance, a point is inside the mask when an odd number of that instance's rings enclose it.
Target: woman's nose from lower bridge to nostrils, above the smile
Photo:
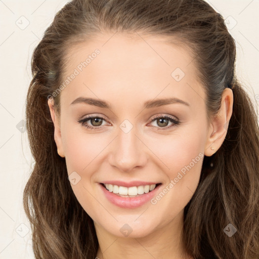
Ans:
[[[120,171],[130,172],[135,167],[143,167],[147,163],[147,147],[137,136],[134,130],[128,133],[119,129],[118,136],[113,141],[109,155],[111,166],[117,167]]]

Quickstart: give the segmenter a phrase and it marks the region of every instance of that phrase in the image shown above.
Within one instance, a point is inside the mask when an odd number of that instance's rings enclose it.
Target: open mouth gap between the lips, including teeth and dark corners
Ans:
[[[113,194],[120,197],[134,198],[147,193],[153,192],[158,188],[161,183],[151,184],[151,185],[139,185],[132,187],[118,186],[112,184],[100,183],[107,191],[112,192]]]

